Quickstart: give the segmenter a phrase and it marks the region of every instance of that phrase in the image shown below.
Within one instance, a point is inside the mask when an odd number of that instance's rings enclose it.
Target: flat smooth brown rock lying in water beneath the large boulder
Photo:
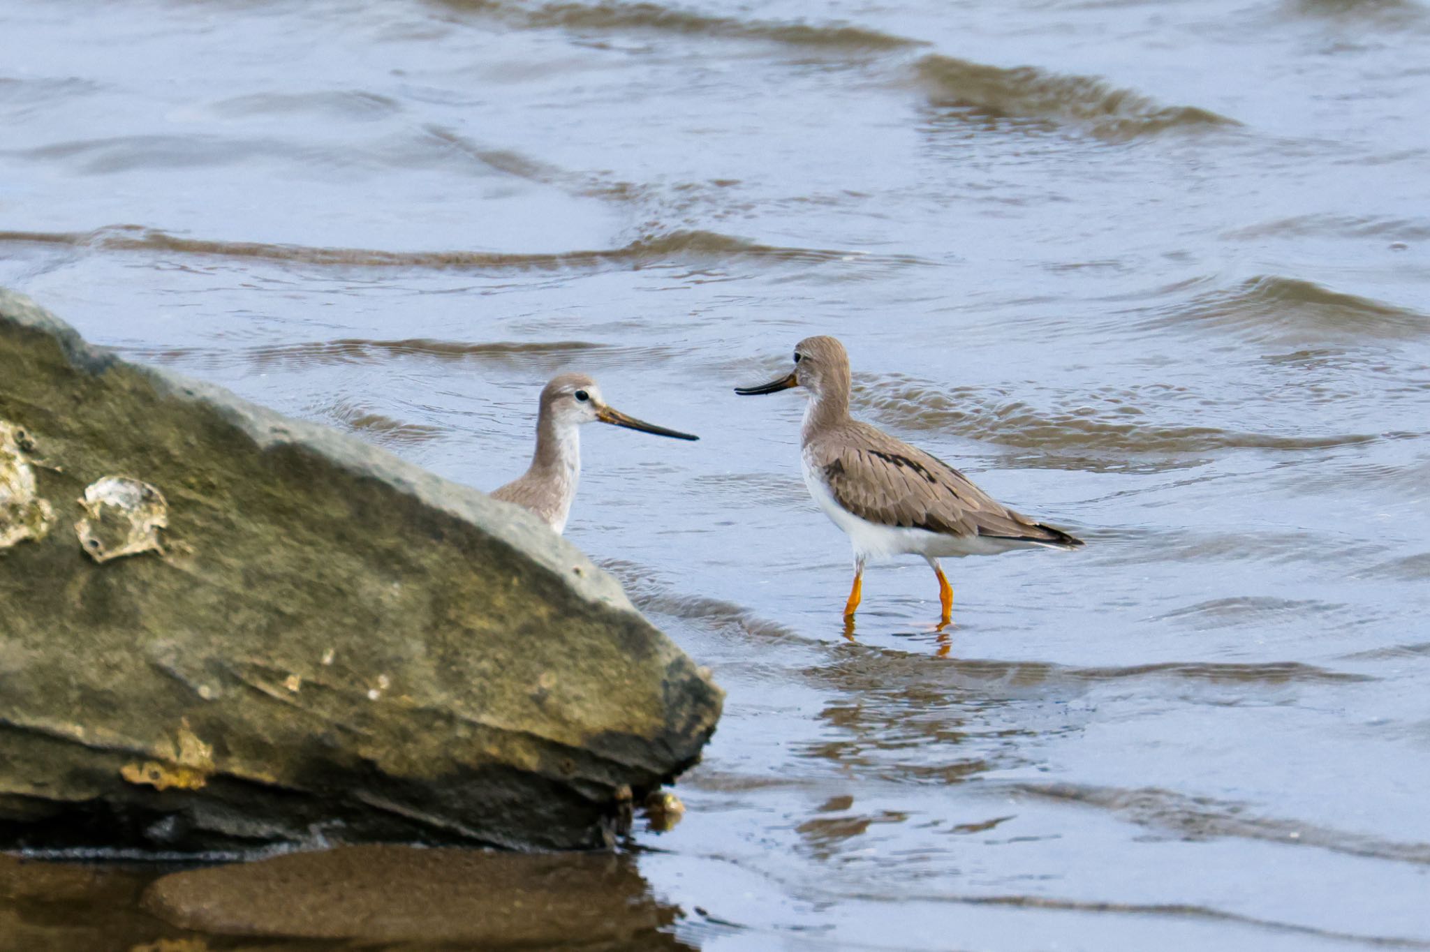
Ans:
[[[212,935],[551,948],[654,936],[658,903],[628,855],[347,846],[170,873],[143,908]]]

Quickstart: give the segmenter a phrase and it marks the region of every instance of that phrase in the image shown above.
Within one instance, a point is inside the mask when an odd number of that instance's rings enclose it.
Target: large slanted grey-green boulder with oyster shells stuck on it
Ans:
[[[721,698],[525,512],[0,290],[0,846],[598,846]]]

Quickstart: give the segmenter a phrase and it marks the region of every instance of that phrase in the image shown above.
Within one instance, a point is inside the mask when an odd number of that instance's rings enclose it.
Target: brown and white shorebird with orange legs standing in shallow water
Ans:
[[[957,469],[917,446],[849,417],[849,356],[834,337],[805,337],[785,376],[735,393],[811,393],[801,429],[805,485],[854,545],[854,587],[844,606],[852,622],[864,590],[864,562],[921,555],[938,576],[940,629],[948,625],[954,589],[941,556],[995,555],[1045,546],[1077,549],[1061,529],[1002,506]]]

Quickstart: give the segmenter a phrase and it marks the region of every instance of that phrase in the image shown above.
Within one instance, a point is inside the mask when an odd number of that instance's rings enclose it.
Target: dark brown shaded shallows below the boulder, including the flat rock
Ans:
[[[682,915],[622,853],[346,846],[182,872],[0,853],[6,952],[675,952]]]

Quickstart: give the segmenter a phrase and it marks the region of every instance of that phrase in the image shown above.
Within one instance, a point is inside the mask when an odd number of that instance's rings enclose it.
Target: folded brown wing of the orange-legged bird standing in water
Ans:
[[[867,423],[852,422],[809,452],[835,500],[868,522],[951,536],[1083,545],[1000,505],[944,460]]]

